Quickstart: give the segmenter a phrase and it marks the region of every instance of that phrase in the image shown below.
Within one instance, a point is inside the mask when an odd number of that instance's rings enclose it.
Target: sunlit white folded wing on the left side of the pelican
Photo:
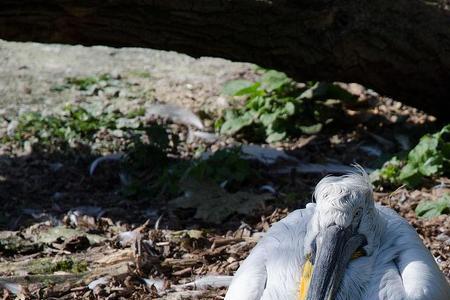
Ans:
[[[225,300],[295,299],[313,212],[314,205],[308,205],[275,223],[239,267]]]

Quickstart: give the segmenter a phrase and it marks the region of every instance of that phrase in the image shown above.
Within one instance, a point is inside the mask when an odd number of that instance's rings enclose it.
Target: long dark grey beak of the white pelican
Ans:
[[[317,245],[312,276],[308,282],[307,300],[336,299],[345,268],[364,241],[363,235],[353,235],[350,228],[337,225],[321,233],[321,243]]]

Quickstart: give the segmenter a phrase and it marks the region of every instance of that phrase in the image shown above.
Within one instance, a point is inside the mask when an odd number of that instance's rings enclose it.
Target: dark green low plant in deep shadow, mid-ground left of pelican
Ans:
[[[153,142],[144,143],[139,137],[130,147],[123,161],[123,170],[131,175],[130,183],[123,189],[126,196],[170,198],[181,192],[181,183],[186,179],[226,183],[227,188],[234,189],[258,177],[250,162],[241,157],[240,148],[218,150],[205,159],[171,159],[168,139],[164,137],[167,133],[159,130],[147,129]]]

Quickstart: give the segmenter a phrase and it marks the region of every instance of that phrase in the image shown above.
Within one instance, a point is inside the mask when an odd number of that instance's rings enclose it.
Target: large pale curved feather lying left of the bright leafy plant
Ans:
[[[194,126],[203,130],[200,118],[189,109],[175,105],[157,104],[147,109],[146,116],[158,116],[172,120],[175,123]]]

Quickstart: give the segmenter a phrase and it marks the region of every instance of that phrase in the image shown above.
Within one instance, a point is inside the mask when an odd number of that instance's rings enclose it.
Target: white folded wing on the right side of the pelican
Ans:
[[[414,228],[393,210],[378,209],[387,227],[367,299],[450,299],[447,280]]]

